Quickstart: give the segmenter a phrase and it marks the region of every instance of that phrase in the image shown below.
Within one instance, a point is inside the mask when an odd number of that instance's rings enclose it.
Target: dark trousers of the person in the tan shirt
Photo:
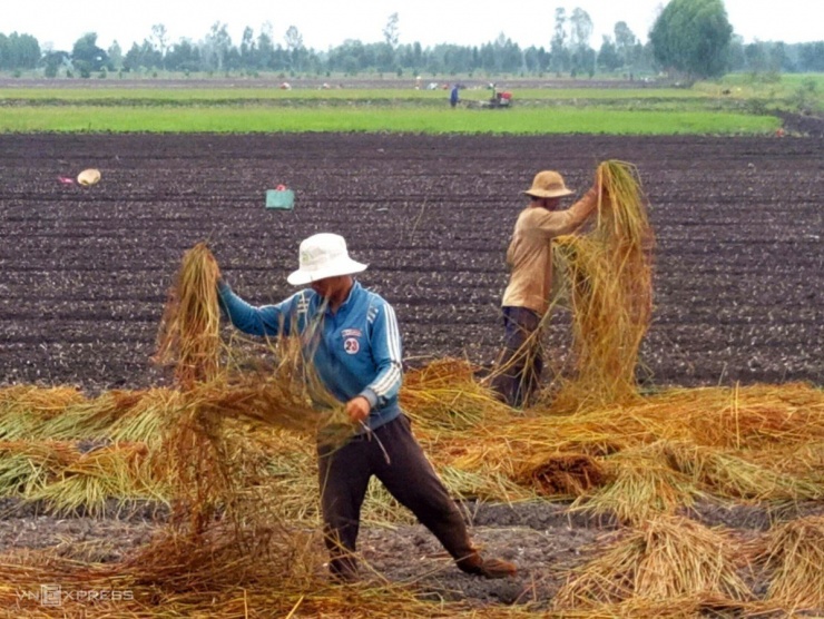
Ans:
[[[510,406],[530,403],[543,371],[538,330],[541,316],[526,307],[503,307],[503,351],[492,389]]]

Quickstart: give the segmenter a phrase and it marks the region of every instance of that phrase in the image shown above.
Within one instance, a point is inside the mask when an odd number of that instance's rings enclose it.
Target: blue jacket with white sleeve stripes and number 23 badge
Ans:
[[[246,303],[225,282],[218,285],[218,296],[232,324],[244,333],[300,335],[304,360],[332,395],[341,402],[357,395],[369,401],[370,430],[401,413],[401,334],[394,310],[380,295],[355,282],[334,314],[311,288],[261,307]]]

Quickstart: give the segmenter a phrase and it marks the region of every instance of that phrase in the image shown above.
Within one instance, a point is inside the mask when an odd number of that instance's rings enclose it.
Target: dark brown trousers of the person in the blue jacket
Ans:
[[[357,570],[353,553],[361,505],[372,475],[434,533],[455,560],[473,554],[458,505],[412,435],[409,419],[400,415],[372,434],[356,436],[336,450],[318,448],[321,508],[332,572],[349,577]]]

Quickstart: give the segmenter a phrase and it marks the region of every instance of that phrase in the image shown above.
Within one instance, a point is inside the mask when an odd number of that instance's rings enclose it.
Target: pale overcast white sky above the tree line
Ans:
[[[745,42],[824,40],[824,0],[724,3],[735,33]],[[233,43],[239,45],[245,27],[256,37],[268,22],[275,43],[283,45],[286,29],[295,26],[306,47],[323,51],[346,39],[382,41],[390,16],[398,13],[401,43],[480,46],[503,33],[521,48],[549,48],[556,8],[565,8],[569,17],[579,7],[592,20],[590,45],[598,49],[617,21],[626,21],[646,41],[665,4],[665,0],[0,0],[0,32],[32,35],[41,48],[51,45],[68,51],[82,35],[96,32],[99,47],[107,49],[117,40],[127,51],[133,42],[149,38],[156,23],[166,27],[170,42],[198,41],[214,23],[225,23]]]

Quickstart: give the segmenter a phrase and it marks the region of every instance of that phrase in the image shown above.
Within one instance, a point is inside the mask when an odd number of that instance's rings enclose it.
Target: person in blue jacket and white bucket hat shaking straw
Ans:
[[[412,510],[465,572],[487,578],[516,573],[512,563],[483,559],[454,501],[412,435],[398,404],[401,335],[392,306],[353,277],[366,265],[349,256],[335,234],[301,243],[300,268],[287,281],[308,285],[276,305],[255,307],[220,279],[218,295],[232,324],[253,335],[298,334],[303,354],[324,386],[345,403],[355,434],[342,448],[318,444],[321,507],[330,570],[357,579],[354,557],[361,505],[372,475]]]

